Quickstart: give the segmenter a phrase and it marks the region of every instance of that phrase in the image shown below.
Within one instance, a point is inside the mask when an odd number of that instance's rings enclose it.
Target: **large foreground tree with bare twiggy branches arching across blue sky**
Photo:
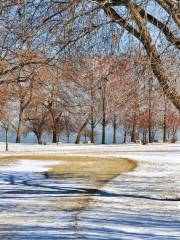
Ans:
[[[172,85],[171,77],[161,59],[161,53],[168,44],[176,50],[180,49],[178,0],[69,0],[65,2],[49,0],[46,4],[43,1],[7,2],[3,4],[3,14],[9,11],[7,18],[11,16],[12,19],[13,15],[14,20],[12,24],[14,31],[9,30],[9,32],[15,41],[19,41],[22,48],[43,48],[49,55],[46,63],[62,58],[72,46],[80,48],[82,39],[87,46],[92,45],[93,34],[96,36],[94,39],[99,36],[99,42],[102,45],[103,28],[111,26],[113,29],[114,27],[120,32],[120,36],[126,30],[144,46],[151,68],[164,94],[180,109],[179,91]],[[104,14],[101,10],[104,10]],[[26,14],[27,11],[29,15]],[[10,21],[10,17],[7,21]],[[159,47],[160,37],[163,42],[165,42],[164,39],[166,40],[166,44],[164,46],[161,44]]]

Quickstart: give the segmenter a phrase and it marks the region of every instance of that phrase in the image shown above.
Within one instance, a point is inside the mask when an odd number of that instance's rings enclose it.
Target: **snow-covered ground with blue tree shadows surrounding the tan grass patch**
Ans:
[[[90,190],[82,179],[44,175],[57,161],[0,166],[0,240],[180,239],[179,144],[12,144],[10,150],[11,156],[120,156],[137,160],[138,167]]]

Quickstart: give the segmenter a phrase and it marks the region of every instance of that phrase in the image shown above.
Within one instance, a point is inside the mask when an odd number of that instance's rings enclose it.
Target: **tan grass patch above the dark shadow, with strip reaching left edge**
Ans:
[[[0,165],[10,165],[15,161],[27,160],[55,160],[63,161],[52,166],[48,171],[49,177],[81,178],[101,182],[110,181],[123,172],[132,171],[136,162],[117,157],[87,157],[87,156],[50,156],[50,155],[19,155],[0,158]]]

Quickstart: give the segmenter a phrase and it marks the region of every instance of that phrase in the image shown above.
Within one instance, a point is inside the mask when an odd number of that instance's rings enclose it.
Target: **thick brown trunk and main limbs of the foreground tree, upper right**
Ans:
[[[159,20],[159,18],[153,15],[153,11],[149,13],[146,10],[150,1],[140,1],[140,3],[136,3],[136,1],[127,0],[97,0],[93,2],[96,2],[114,23],[125,28],[142,43],[151,62],[154,75],[157,77],[165,95],[180,109],[180,95],[171,83],[170,76],[168,76],[163,66],[160,52],[155,45],[151,30],[148,27],[149,23],[152,24],[160,33],[164,34],[167,41],[175,48],[180,49],[180,40],[173,32],[174,26],[176,26],[177,29],[180,26],[178,1],[154,0],[154,6],[163,8],[166,12],[166,19],[168,19],[168,21],[166,20],[165,22],[163,21],[163,15],[160,16],[161,19]],[[123,14],[123,11],[121,11],[123,7],[126,8],[126,14]],[[168,25],[169,19],[173,20],[173,23],[171,23],[172,29],[171,26]]]

